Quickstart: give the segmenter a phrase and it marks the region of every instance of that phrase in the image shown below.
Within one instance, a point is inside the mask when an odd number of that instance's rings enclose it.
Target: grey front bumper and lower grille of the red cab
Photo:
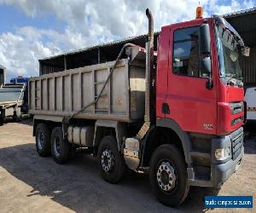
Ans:
[[[188,168],[188,177],[190,186],[219,188],[239,167],[244,155],[243,147],[243,129],[235,130],[230,135],[214,137],[209,141],[211,145],[211,163],[210,170],[205,172],[208,179],[198,179],[194,168]],[[215,150],[218,148],[230,147],[230,157],[225,160],[215,158]],[[211,174],[209,174],[211,173]]]

